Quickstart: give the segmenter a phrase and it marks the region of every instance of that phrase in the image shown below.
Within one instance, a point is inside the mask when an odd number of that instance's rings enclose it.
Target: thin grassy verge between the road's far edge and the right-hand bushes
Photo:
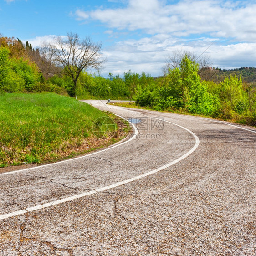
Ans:
[[[134,102],[131,102],[131,103],[115,102],[114,104],[113,103],[110,103],[110,104],[116,105],[116,106],[119,106],[119,107],[125,107],[125,108],[140,108],[140,109],[147,109],[147,110],[153,110],[154,111],[154,109],[149,108],[149,107],[138,106]],[[163,111],[160,111],[160,112],[183,114],[183,115],[190,115],[190,116],[199,116],[199,117],[205,117],[205,118],[213,118],[211,116],[206,116],[206,115],[187,113],[187,112],[182,111],[182,110],[180,110],[180,111],[179,110],[163,110]],[[245,116],[239,115],[239,114],[237,114],[236,118],[232,118],[232,119],[220,119],[220,118],[215,118],[215,119],[230,121],[230,122],[233,122],[233,123],[240,123],[240,124],[245,124],[245,125],[250,125],[250,126],[256,127],[256,125],[254,123],[251,123],[250,120],[248,121]]]

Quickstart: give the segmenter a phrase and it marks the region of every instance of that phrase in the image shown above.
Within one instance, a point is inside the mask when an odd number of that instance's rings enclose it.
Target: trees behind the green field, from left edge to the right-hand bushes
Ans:
[[[20,39],[0,36],[0,91],[56,92],[79,98],[132,99],[139,88],[154,81],[142,72],[125,72],[123,77],[101,77],[105,59],[101,43],[80,40],[76,33],[56,37],[34,49]],[[95,70],[89,73],[88,69]]]

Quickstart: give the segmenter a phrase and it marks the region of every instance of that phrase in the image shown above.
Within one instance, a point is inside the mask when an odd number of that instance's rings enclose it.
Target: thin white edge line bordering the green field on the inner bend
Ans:
[[[117,114],[114,114],[120,118],[123,118]],[[129,122],[126,118],[123,118],[124,120],[126,120],[127,122]],[[129,122],[132,127],[134,128],[135,132],[133,134],[133,137],[132,138],[129,138],[128,140],[120,143],[120,142],[117,142],[116,144],[112,145],[112,146],[109,146],[108,148],[105,148],[105,149],[102,149],[102,150],[99,150],[97,152],[93,152],[93,153],[90,153],[90,154],[87,154],[87,155],[83,155],[83,156],[79,156],[79,157],[76,157],[76,158],[71,158],[71,159],[67,159],[67,160],[63,160],[63,161],[59,161],[59,162],[56,162],[56,163],[52,163],[52,164],[44,164],[44,165],[39,165],[39,166],[35,166],[35,167],[30,167],[30,168],[26,168],[26,169],[21,169],[21,170],[16,170],[16,171],[11,171],[11,172],[5,172],[5,173],[2,173],[0,174],[0,176],[3,176],[3,175],[8,175],[8,174],[14,174],[14,173],[20,173],[20,172],[24,172],[24,171],[28,171],[28,170],[32,170],[32,169],[38,169],[38,168],[42,168],[42,167],[45,167],[45,166],[50,166],[50,165],[54,165],[54,164],[62,164],[62,163],[65,163],[65,162],[69,162],[69,161],[73,161],[73,160],[77,160],[77,159],[81,159],[81,158],[85,158],[85,157],[88,157],[88,156],[91,156],[91,155],[94,155],[94,154],[99,154],[101,152],[104,152],[104,151],[107,151],[109,149],[112,149],[112,148],[116,148],[116,147],[119,147],[125,143],[128,143],[130,142],[131,140],[133,140],[134,138],[136,138],[138,136],[138,129],[136,128],[136,126]]]

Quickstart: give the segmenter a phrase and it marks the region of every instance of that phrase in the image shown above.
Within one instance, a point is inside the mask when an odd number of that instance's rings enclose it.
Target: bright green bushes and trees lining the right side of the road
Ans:
[[[209,70],[211,72],[211,70]],[[202,80],[199,65],[186,54],[158,87],[145,88],[136,103],[155,110],[191,113],[256,126],[256,87],[236,75],[222,82]]]

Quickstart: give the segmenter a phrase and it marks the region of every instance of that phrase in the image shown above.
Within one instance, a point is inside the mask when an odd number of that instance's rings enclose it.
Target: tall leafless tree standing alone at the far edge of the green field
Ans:
[[[89,37],[80,40],[76,33],[68,32],[66,37],[58,36],[51,44],[51,51],[56,63],[64,67],[67,76],[74,82],[76,93],[77,80],[82,70],[93,68],[99,70],[104,60],[101,58],[101,43],[94,43]]]

